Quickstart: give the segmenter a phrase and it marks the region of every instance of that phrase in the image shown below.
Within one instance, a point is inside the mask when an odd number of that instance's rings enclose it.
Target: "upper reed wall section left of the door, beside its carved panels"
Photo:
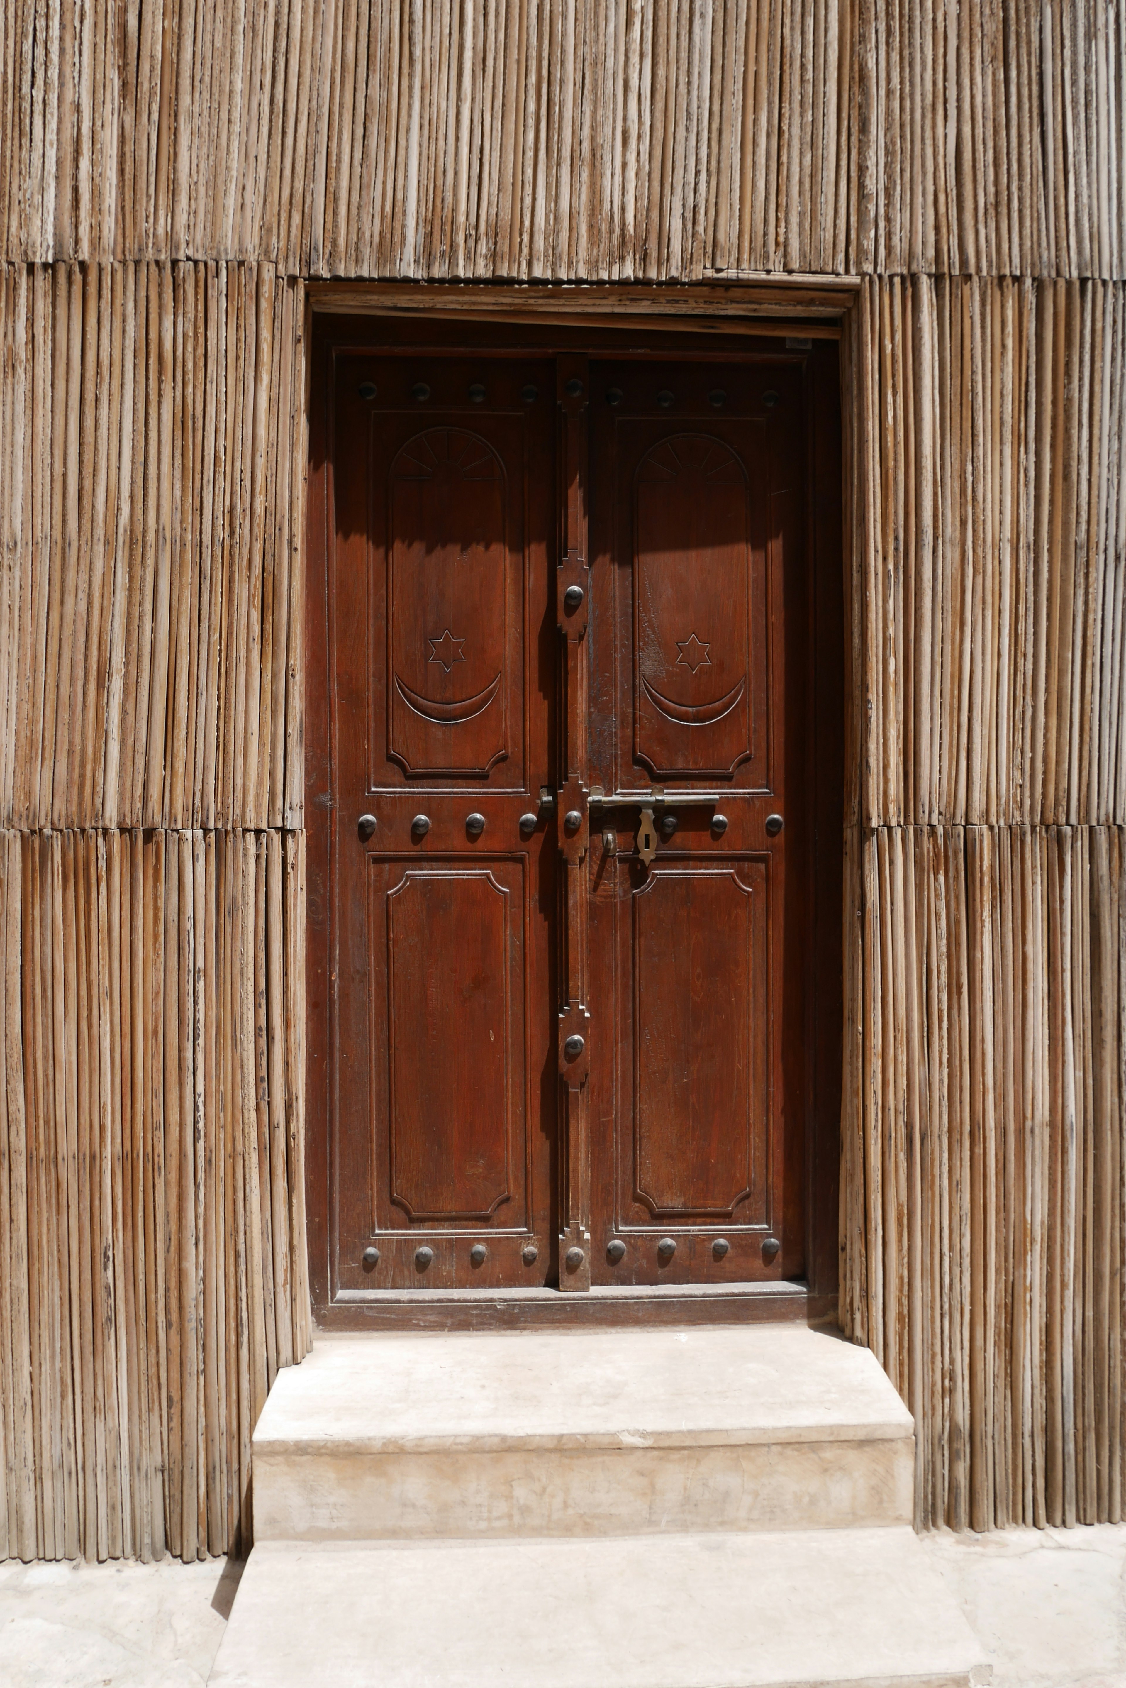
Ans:
[[[0,268],[0,819],[299,827],[300,285]]]

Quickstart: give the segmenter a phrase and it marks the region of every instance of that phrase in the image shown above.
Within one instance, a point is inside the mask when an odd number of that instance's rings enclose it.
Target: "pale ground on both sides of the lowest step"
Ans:
[[[1126,1524],[923,1538],[994,1688],[1126,1688]],[[2,1688],[203,1688],[240,1566],[0,1563]]]

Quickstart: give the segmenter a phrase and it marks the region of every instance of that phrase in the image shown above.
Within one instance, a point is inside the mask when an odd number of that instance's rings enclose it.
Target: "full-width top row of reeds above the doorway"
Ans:
[[[3,0],[12,260],[1121,277],[1111,0]]]

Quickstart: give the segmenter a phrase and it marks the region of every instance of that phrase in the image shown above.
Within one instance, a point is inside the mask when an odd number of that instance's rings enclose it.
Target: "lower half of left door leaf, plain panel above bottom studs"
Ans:
[[[339,1252],[344,1293],[544,1281],[525,869],[523,858],[366,858],[366,942],[355,959],[371,1106],[368,1166],[343,1168],[339,1190],[355,1237]]]

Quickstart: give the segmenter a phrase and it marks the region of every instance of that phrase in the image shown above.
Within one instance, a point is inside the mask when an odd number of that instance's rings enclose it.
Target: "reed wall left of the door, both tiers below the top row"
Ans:
[[[304,300],[0,268],[0,1548],[246,1539],[309,1345]]]

